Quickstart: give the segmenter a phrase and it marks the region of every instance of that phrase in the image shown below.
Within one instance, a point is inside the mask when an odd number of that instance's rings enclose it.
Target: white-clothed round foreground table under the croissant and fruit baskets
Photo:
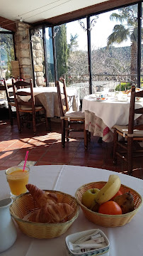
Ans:
[[[108,181],[113,171],[96,169],[84,166],[32,166],[30,167],[30,180],[42,189],[53,189],[75,195],[76,189],[84,183],[93,181]],[[121,183],[135,189],[143,196],[143,181],[139,178],[118,174]],[[9,195],[8,183],[4,171],[0,171],[0,199]],[[59,238],[38,240],[29,238],[18,230],[18,238],[14,245],[1,253],[1,256],[64,256],[65,238],[71,233],[94,228],[103,230],[110,240],[110,256],[141,256],[143,250],[143,207],[139,209],[130,223],[117,228],[104,228],[91,223],[80,210],[79,217],[64,235]],[[105,255],[106,256],[106,255]]]

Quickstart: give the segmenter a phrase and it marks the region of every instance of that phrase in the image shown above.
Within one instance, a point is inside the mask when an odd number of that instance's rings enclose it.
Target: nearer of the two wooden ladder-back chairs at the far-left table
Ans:
[[[16,115],[17,115],[17,122],[18,122],[18,130],[21,133],[21,126],[23,126],[24,123],[29,125],[31,122],[33,123],[33,132],[34,135],[36,134],[36,124],[39,122],[42,122],[40,120],[40,111],[44,112],[45,119],[43,122],[46,124],[46,130],[47,130],[47,116],[46,111],[44,107],[36,106],[35,105],[35,97],[33,95],[33,80],[31,79],[30,82],[24,82],[24,81],[17,81],[14,82],[12,80],[13,85],[13,95],[14,100],[16,104]],[[30,92],[25,91],[17,91],[17,86],[23,87],[30,87]],[[21,100],[22,96],[30,96],[30,100],[28,102],[25,102]]]

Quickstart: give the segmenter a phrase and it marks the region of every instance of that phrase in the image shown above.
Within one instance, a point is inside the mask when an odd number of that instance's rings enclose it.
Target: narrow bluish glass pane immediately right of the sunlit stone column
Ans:
[[[54,58],[52,48],[52,28],[45,28],[46,38],[46,65],[47,65],[47,85],[55,86]]]

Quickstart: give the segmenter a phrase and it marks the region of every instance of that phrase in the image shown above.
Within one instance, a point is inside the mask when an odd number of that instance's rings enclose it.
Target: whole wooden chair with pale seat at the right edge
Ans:
[[[126,161],[129,175],[132,175],[133,158],[143,156],[143,148],[138,143],[143,141],[143,124],[135,125],[135,114],[143,114],[143,107],[135,107],[136,97],[143,97],[143,91],[135,92],[135,85],[132,85],[128,126],[113,127],[113,164],[117,164],[119,156]],[[121,135],[123,140],[119,140],[118,135]]]

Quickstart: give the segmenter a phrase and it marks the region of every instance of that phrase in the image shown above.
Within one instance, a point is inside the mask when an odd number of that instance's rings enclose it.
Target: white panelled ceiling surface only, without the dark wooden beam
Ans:
[[[108,0],[1,0],[0,16],[35,23],[105,1]]]

